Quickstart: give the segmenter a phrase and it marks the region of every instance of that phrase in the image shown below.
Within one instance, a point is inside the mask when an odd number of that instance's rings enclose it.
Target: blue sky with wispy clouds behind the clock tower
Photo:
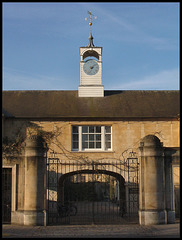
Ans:
[[[105,90],[179,89],[177,2],[4,2],[3,90],[77,90],[88,10]]]

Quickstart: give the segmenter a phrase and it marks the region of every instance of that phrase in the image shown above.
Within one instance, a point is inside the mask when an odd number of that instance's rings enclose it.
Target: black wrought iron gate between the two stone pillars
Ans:
[[[49,224],[138,221],[138,159],[47,159]]]

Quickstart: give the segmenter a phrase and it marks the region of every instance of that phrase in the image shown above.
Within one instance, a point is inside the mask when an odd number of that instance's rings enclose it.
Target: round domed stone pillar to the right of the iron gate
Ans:
[[[166,224],[163,146],[154,135],[140,143],[139,223]]]

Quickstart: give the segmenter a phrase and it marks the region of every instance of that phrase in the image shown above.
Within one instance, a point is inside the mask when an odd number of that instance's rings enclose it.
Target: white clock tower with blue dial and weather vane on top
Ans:
[[[102,85],[102,47],[93,44],[91,33],[92,16],[90,14],[90,36],[89,44],[80,47],[80,85],[78,88],[79,97],[103,97],[104,86]]]

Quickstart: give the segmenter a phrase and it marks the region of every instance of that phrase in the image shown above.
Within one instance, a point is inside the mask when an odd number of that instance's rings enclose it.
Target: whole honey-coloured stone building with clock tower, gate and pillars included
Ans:
[[[3,91],[3,222],[174,223],[179,91],[104,91],[80,48],[78,91]]]

